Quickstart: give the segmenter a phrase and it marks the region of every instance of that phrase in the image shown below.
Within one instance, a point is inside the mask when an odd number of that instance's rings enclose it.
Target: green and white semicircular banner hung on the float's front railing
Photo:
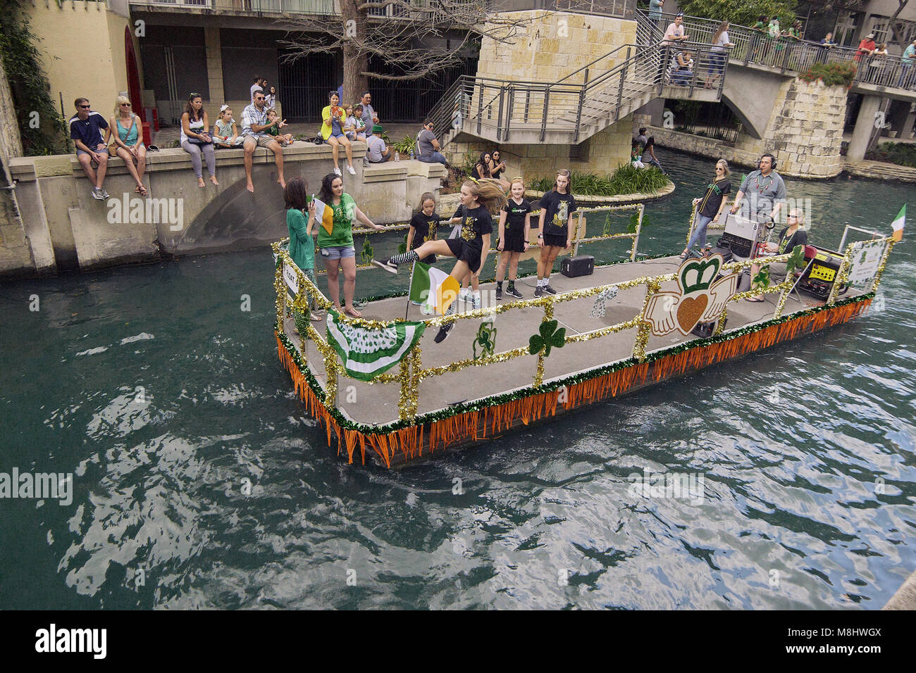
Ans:
[[[337,311],[328,310],[328,343],[340,355],[347,374],[360,381],[371,381],[398,364],[420,341],[425,329],[423,322],[368,329],[345,323]]]

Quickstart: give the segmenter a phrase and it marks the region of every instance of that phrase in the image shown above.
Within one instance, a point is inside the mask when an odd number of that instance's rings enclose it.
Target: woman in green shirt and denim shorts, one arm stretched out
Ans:
[[[384,229],[373,223],[356,207],[349,194],[344,194],[344,180],[335,173],[322,179],[322,190],[315,201],[314,226],[318,229],[318,249],[322,253],[324,267],[328,271],[328,297],[341,312],[340,285],[338,274],[344,269],[344,314],[351,318],[362,318],[363,314],[354,309],[353,296],[356,291],[356,251],[353,246],[354,218],[370,229]],[[311,232],[310,232],[311,233]]]

